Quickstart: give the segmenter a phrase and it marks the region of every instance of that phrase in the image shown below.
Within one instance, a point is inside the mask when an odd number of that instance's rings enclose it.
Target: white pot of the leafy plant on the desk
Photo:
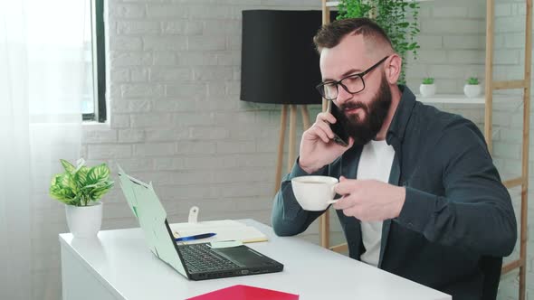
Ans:
[[[94,238],[102,225],[102,202],[89,206],[65,205],[67,224],[74,238]]]

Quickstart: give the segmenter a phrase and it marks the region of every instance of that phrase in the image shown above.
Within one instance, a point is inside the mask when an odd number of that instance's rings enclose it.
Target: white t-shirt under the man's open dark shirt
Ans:
[[[375,179],[387,183],[395,150],[387,145],[386,140],[371,140],[364,145],[358,164],[358,179]],[[382,240],[383,221],[362,221],[361,233],[366,251],[360,259],[368,265],[378,266],[380,258],[380,242]]]

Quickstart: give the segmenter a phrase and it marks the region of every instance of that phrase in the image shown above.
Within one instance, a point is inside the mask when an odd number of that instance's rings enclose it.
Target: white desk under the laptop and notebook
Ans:
[[[254,220],[241,221],[267,234],[268,242],[247,246],[280,261],[282,272],[189,281],[148,250],[140,229],[104,230],[99,239],[72,239],[64,233],[62,299],[186,299],[239,284],[298,294],[302,300],[451,299],[305,240],[277,237]]]

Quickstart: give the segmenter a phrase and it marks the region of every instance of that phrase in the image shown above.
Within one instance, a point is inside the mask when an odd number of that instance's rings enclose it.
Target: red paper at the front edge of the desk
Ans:
[[[299,295],[273,291],[255,286],[230,286],[187,300],[298,300]]]

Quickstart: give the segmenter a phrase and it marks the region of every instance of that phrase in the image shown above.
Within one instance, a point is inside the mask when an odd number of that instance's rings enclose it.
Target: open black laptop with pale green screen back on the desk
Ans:
[[[145,234],[148,248],[181,275],[192,280],[280,272],[283,265],[244,245],[211,248],[210,243],[179,244],[167,222],[152,183],[143,183],[119,167],[122,192]]]

